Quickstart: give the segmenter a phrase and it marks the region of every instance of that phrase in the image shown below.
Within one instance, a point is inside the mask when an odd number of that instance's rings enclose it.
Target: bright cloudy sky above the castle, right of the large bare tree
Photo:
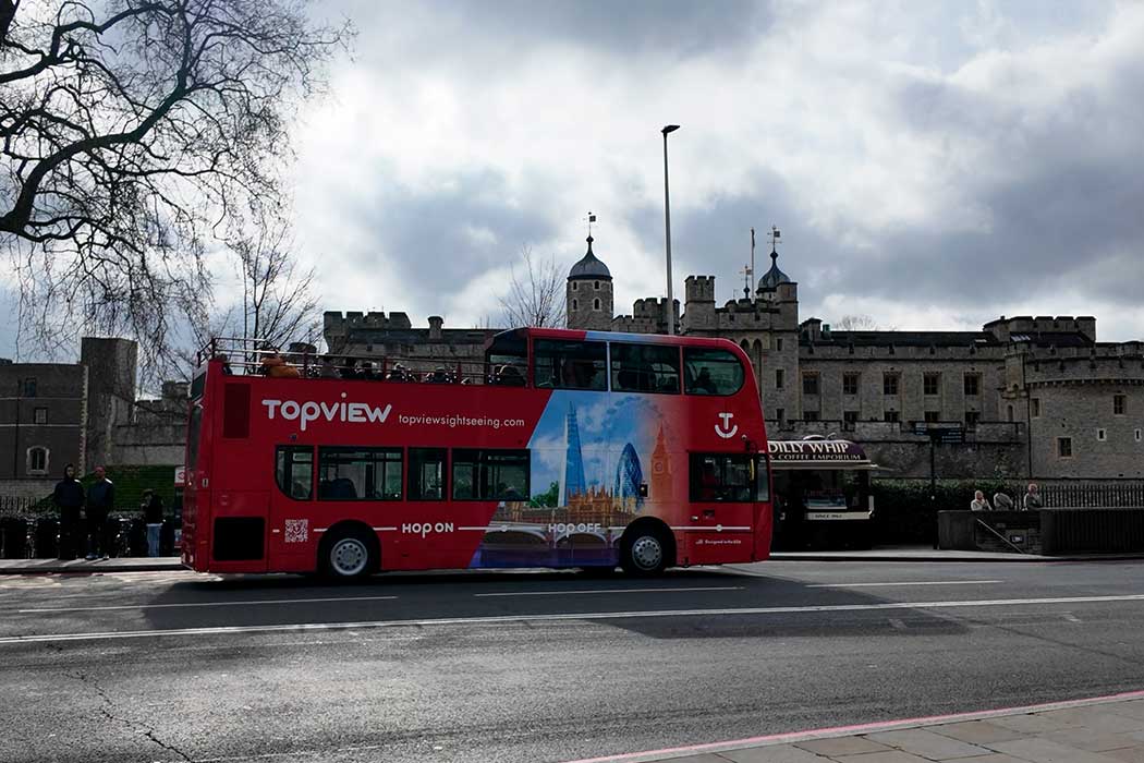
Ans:
[[[782,231],[803,318],[1144,337],[1144,3],[326,0],[352,57],[296,132],[297,241],[331,310],[495,316],[523,246],[597,213],[615,304],[741,294]]]

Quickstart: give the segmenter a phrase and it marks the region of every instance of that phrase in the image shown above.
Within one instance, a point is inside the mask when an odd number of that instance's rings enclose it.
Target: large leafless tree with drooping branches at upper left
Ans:
[[[297,0],[0,0],[0,243],[22,331],[49,351],[122,332],[161,356],[209,302],[210,238],[278,198],[292,113],[350,34]]]

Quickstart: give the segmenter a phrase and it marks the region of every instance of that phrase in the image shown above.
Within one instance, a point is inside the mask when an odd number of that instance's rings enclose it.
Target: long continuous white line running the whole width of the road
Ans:
[[[955,610],[987,606],[1028,606],[1038,604],[1099,604],[1144,602],[1144,594],[1119,596],[1067,596],[1059,598],[993,598],[954,602],[887,602],[882,604],[821,604],[812,606],[756,606],[699,610],[636,610],[629,612],[566,612],[556,614],[505,614],[429,620],[367,620],[362,622],[300,622],[277,626],[219,626],[213,628],[168,628],[164,630],[109,630],[78,634],[30,634],[0,637],[0,645],[45,642],[154,638],[156,636],[220,636],[231,634],[291,633],[302,630],[352,630],[353,628],[397,628],[432,626],[505,625],[519,622],[575,622],[578,620],[633,620],[686,617],[742,617],[747,614],[802,614],[813,612],[864,612],[875,610]]]

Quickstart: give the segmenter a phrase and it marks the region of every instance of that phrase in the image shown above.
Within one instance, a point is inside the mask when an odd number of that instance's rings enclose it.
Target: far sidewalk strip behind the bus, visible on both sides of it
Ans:
[[[784,551],[771,555],[772,562],[1122,562],[1144,559],[1144,554],[1080,554],[1035,556],[991,551],[935,550],[927,546],[875,548],[864,551]],[[73,559],[0,559],[0,575],[94,572],[159,572],[183,570],[177,556],[124,557],[98,562]]]

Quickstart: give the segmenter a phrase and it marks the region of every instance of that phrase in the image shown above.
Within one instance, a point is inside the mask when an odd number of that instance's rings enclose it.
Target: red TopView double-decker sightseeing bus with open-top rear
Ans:
[[[654,574],[769,554],[763,413],[732,342],[514,329],[468,367],[262,356],[216,340],[192,383],[193,570]]]

